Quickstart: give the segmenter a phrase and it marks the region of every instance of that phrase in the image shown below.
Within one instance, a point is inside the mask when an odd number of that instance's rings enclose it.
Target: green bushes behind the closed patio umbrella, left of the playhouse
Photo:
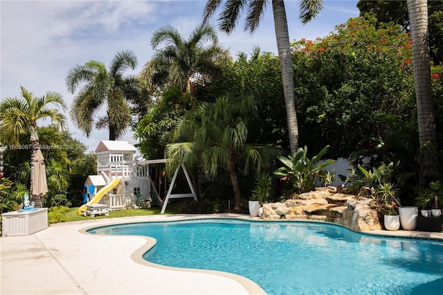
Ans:
[[[61,132],[56,125],[39,127],[38,135],[48,183],[44,206],[59,203],[79,206],[82,204],[85,179],[96,174],[96,155],[85,154],[87,147],[66,130]],[[23,137],[27,136],[29,133]],[[29,193],[30,184],[30,159],[24,159],[24,153],[30,154],[30,150],[9,148],[3,155],[3,172],[10,180],[10,191],[23,192],[18,195],[21,198],[25,191]],[[17,197],[8,199],[17,204],[23,201]]]

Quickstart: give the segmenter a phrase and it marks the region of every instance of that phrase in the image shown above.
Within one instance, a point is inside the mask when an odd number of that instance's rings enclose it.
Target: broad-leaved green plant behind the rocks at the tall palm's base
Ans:
[[[300,147],[295,157],[278,156],[280,162],[284,166],[273,171],[273,175],[279,177],[284,181],[290,181],[296,193],[307,193],[314,190],[316,187],[316,177],[320,176],[320,171],[326,166],[335,162],[335,160],[328,159],[320,163],[321,157],[327,152],[329,145],[320,150],[320,152],[309,159],[307,157],[307,147]]]

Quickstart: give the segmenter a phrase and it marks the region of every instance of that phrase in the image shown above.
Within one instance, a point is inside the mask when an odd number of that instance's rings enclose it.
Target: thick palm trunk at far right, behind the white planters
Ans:
[[[420,144],[420,182],[441,179],[433,114],[426,0],[408,0]]]

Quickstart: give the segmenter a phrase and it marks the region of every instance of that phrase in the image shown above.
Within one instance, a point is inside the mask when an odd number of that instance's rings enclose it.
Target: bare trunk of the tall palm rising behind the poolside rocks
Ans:
[[[289,146],[291,155],[295,156],[298,149],[298,123],[296,114],[296,100],[294,96],[293,69],[291,47],[289,45],[289,31],[286,19],[286,10],[283,0],[272,1],[274,16],[275,37],[277,38],[278,60],[282,71],[284,104],[286,105]]]

